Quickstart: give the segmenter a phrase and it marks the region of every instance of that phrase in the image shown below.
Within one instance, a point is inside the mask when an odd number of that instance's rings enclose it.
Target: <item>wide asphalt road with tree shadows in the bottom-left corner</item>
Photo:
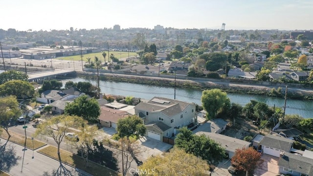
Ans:
[[[60,163],[36,151],[25,150],[24,147],[1,139],[0,168],[11,176],[44,176],[51,175]],[[89,176],[75,168],[64,165],[72,176]]]

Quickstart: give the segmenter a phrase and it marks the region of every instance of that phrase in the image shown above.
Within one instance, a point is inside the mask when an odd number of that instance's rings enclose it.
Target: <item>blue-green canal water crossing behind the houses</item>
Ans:
[[[63,80],[63,86],[67,81],[73,82],[90,82],[97,85],[96,80],[88,80],[83,78],[72,78]],[[101,92],[105,94],[114,94],[122,96],[133,96],[143,99],[151,99],[155,96],[174,99],[174,87],[158,87],[144,84],[133,84],[123,82],[100,81]],[[201,105],[201,90],[176,88],[176,99],[185,102],[194,102]],[[256,100],[264,102],[268,106],[284,107],[285,100],[282,98],[268,97],[263,95],[227,93],[231,102],[238,103],[242,106]],[[292,100],[287,99],[286,114],[299,114],[304,118],[313,118],[313,101],[309,100]]]

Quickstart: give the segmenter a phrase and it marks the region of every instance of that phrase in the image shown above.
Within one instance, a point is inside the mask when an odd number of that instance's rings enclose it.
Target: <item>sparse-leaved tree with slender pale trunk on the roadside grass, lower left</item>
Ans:
[[[62,175],[63,172],[67,172],[67,169],[63,166],[62,158],[60,154],[60,145],[65,137],[65,134],[68,132],[69,128],[79,127],[82,124],[82,119],[77,116],[68,116],[68,115],[59,115],[46,121],[43,121],[40,125],[37,126],[37,130],[34,133],[34,136],[49,136],[52,137],[53,140],[57,144],[58,148],[58,159],[60,166],[56,171],[57,175]]]

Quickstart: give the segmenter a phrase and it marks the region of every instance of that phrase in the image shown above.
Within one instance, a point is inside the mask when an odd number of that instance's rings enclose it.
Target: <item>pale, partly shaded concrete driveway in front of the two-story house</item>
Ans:
[[[138,151],[140,151],[137,155],[143,159],[148,159],[152,155],[163,154],[173,147],[170,144],[163,143],[150,137],[141,137],[137,141]]]

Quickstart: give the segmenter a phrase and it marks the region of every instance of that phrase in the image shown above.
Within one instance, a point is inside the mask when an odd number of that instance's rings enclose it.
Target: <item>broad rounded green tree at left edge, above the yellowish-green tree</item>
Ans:
[[[27,98],[34,93],[34,87],[27,81],[11,80],[0,85],[0,96],[14,95],[18,98]]]

